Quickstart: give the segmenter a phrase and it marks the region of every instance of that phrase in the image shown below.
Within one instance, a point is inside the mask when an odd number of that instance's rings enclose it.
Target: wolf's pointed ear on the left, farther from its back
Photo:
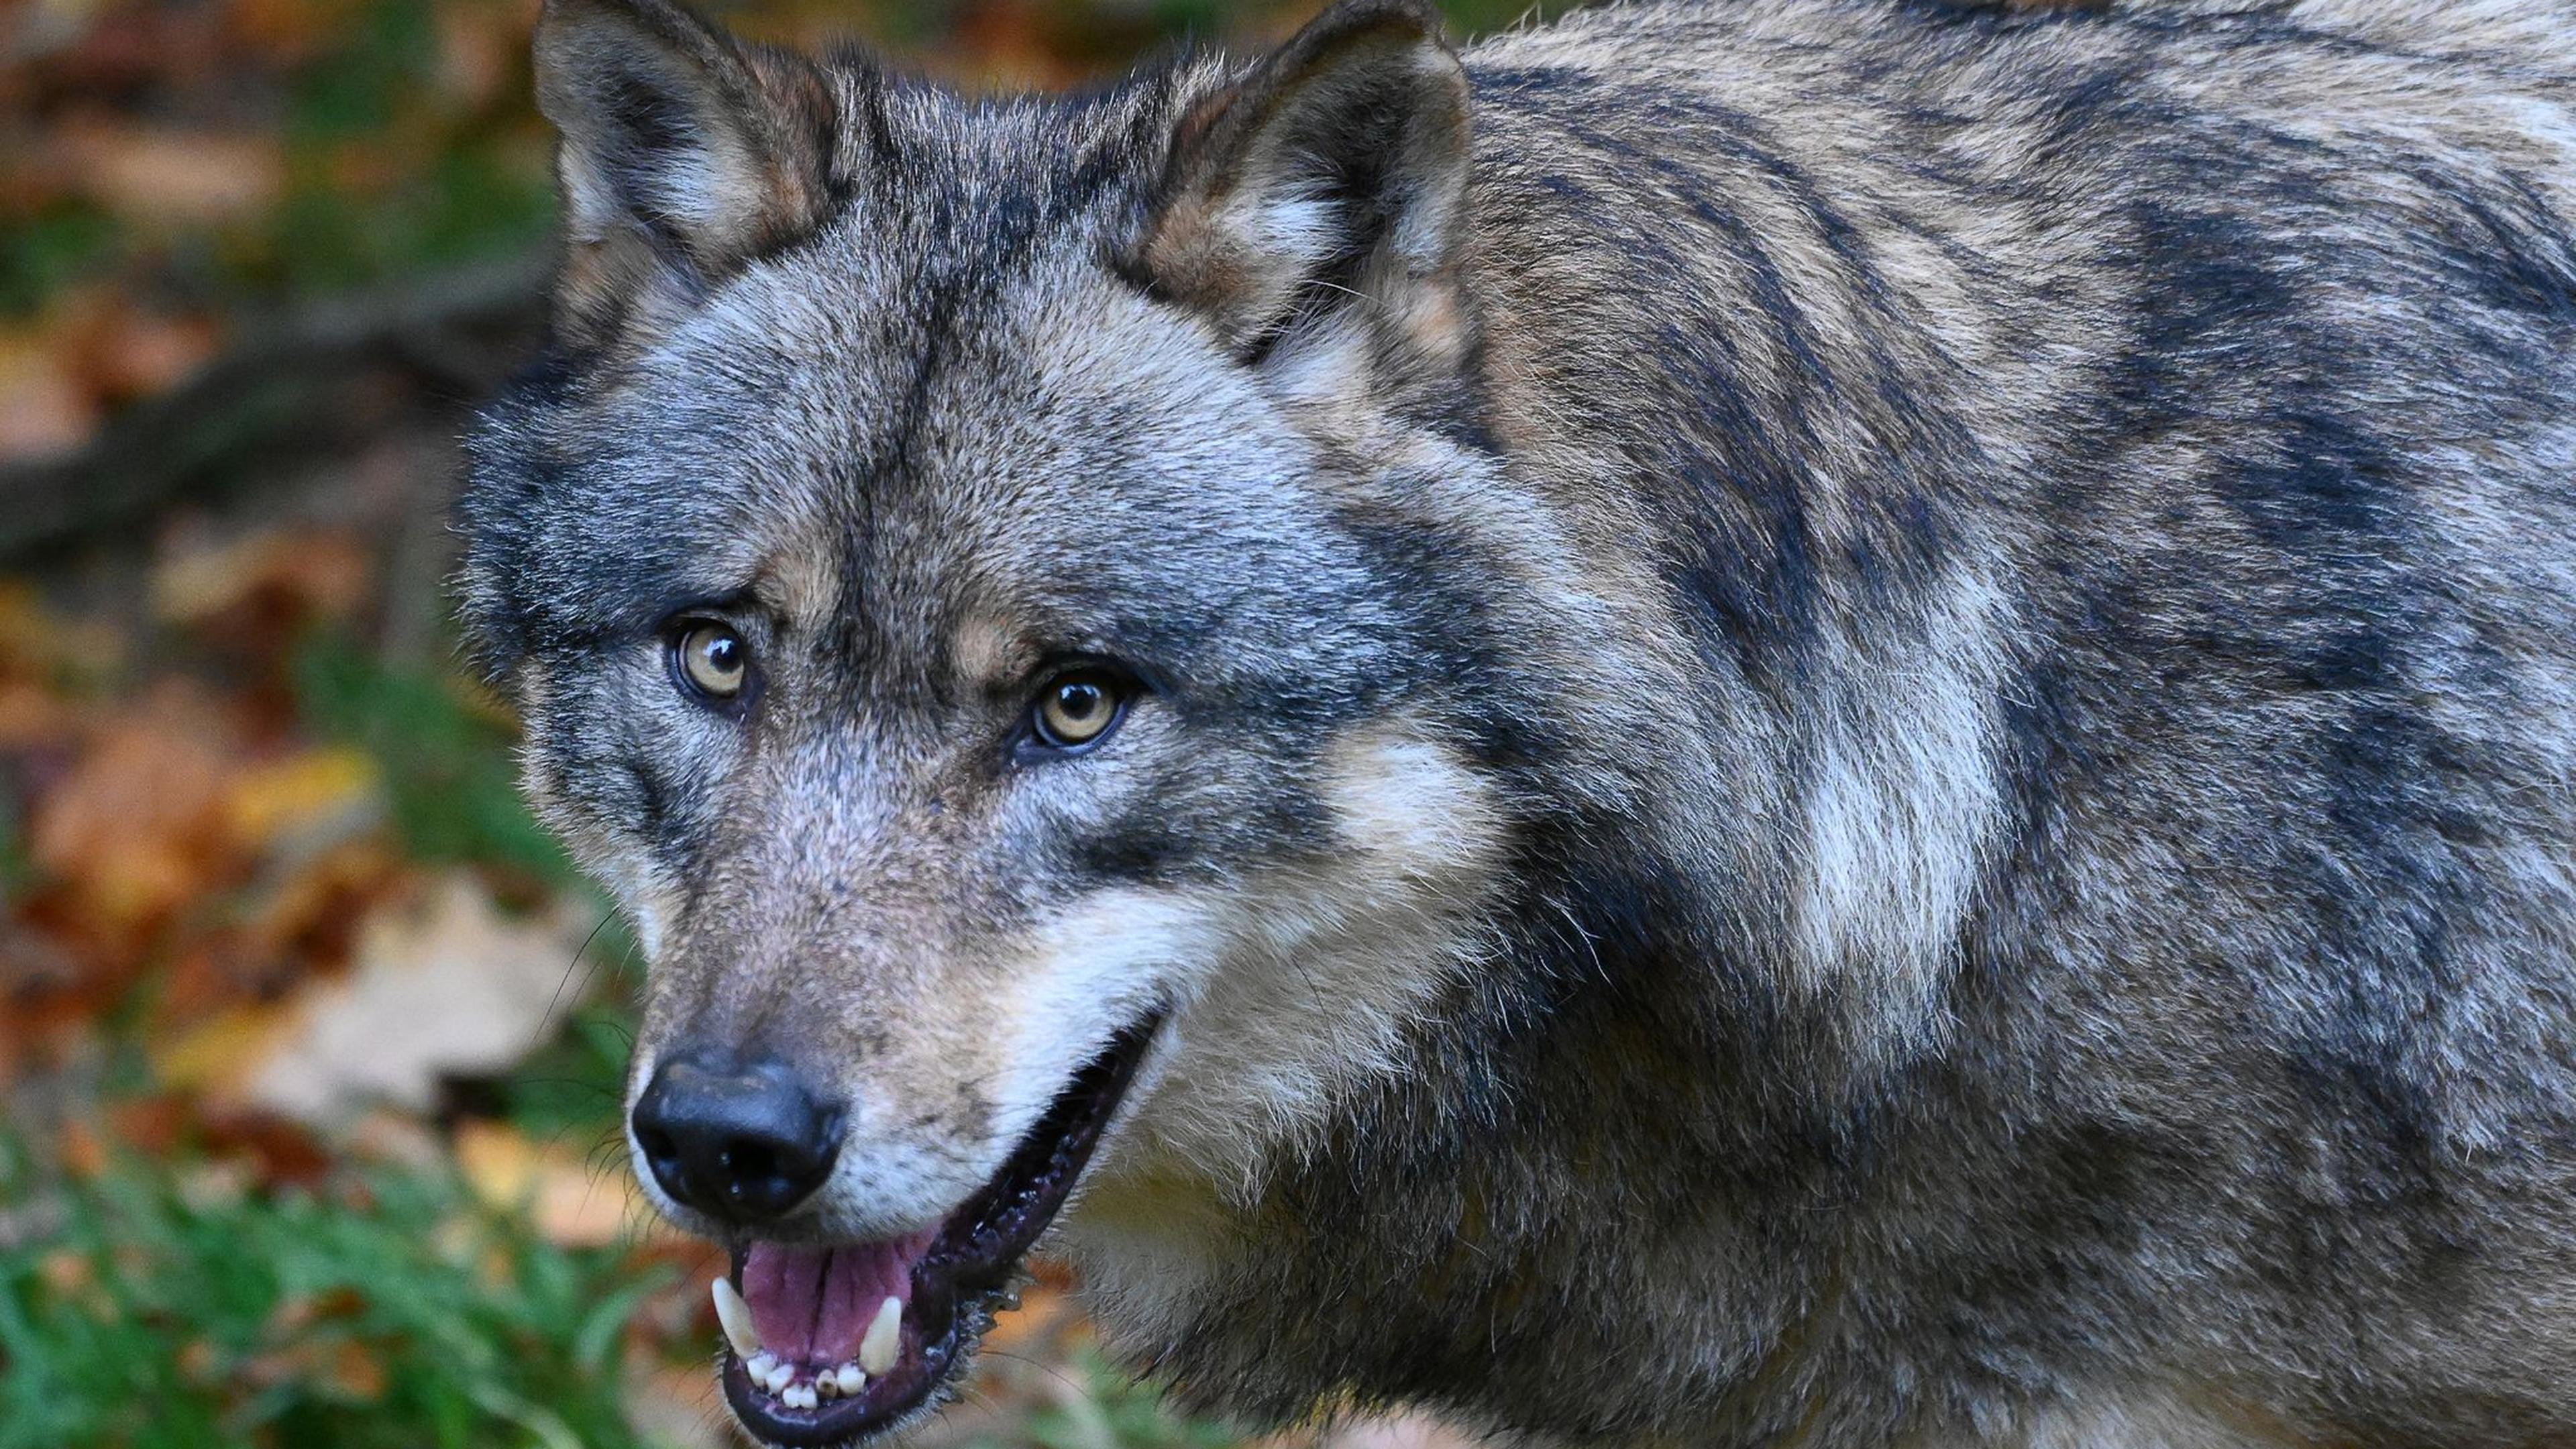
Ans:
[[[546,0],[536,103],[562,134],[574,348],[654,335],[750,258],[822,224],[837,103],[804,57],[670,0]]]

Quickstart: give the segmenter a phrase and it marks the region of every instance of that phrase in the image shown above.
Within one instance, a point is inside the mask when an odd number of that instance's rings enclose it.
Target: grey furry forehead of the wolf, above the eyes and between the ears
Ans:
[[[1141,137],[1211,67],[1010,103],[832,75],[829,214],[641,345],[559,343],[477,428],[466,611],[497,673],[724,598],[1170,645],[1229,598],[1368,593],[1306,495],[1329,459],[1121,271]]]

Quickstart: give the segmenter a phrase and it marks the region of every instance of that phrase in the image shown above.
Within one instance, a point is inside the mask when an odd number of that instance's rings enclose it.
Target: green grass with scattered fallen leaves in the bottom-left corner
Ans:
[[[662,1276],[554,1248],[446,1173],[13,1173],[0,1209],[59,1232],[0,1250],[0,1449],[641,1444],[621,1346]]]

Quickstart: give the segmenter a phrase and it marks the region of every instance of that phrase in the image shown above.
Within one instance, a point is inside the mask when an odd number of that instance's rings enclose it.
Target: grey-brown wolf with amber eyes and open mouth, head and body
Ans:
[[[2576,8],[549,0],[464,608],[726,1400],[2576,1444]]]

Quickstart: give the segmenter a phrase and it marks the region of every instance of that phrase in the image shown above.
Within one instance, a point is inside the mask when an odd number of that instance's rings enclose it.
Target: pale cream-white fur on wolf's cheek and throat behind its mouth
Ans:
[[[1121,957],[1182,972],[1136,1119],[1066,1220],[1066,1250],[1123,1294],[1185,1292],[1193,1220],[1249,1194],[1275,1152],[1309,1150],[1337,1098],[1401,1070],[1406,1026],[1481,949],[1473,920],[1502,843],[1489,786],[1378,724],[1332,750],[1327,789],[1337,859],[1226,892],[1115,892],[1079,915],[1095,944],[1066,995],[1126,990]]]

